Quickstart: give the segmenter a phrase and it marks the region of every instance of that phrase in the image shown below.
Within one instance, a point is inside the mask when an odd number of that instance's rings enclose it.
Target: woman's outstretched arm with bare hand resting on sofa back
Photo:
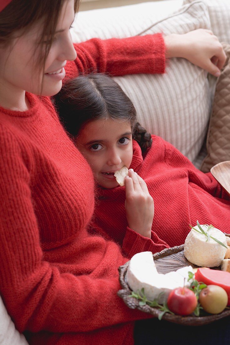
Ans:
[[[226,61],[218,38],[206,29],[185,34],[160,33],[129,38],[93,38],[74,45],[77,59],[68,61],[67,78],[101,72],[113,76],[164,73],[165,59],[182,57],[218,76]]]

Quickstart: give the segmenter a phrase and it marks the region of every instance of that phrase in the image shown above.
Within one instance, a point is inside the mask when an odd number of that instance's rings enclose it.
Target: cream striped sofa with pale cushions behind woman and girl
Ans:
[[[129,37],[155,32],[186,33],[211,29],[230,42],[229,0],[162,0],[79,12],[74,42],[92,37]],[[167,62],[164,75],[114,77],[133,101],[138,120],[153,134],[171,142],[198,168],[206,156],[216,78],[184,59]],[[0,298],[0,345],[28,344],[15,329]]]

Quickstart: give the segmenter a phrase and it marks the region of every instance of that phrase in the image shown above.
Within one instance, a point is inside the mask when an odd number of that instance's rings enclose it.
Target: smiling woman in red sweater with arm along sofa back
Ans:
[[[196,63],[198,53],[215,74],[225,55],[206,31],[202,52],[200,31],[73,46],[77,8],[78,0],[0,2],[0,295],[30,344],[132,344],[133,321],[148,316],[117,297],[120,248],[86,231],[93,175],[49,96],[65,73],[163,73],[166,56]]]

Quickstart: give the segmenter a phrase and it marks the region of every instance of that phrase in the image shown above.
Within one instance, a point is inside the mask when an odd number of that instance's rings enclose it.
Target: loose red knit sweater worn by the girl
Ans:
[[[144,158],[133,140],[133,168],[147,183],[154,200],[152,237],[144,248],[153,253],[184,243],[189,224],[212,224],[230,232],[230,201],[211,173],[196,169],[189,159],[162,138],[152,136],[152,147]],[[125,187],[97,188],[92,229],[112,238],[129,257],[129,248],[139,251],[138,235],[128,227],[124,201]]]

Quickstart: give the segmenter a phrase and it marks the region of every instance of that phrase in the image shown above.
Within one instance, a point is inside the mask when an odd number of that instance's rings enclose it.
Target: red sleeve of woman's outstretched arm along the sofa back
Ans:
[[[161,34],[130,38],[93,38],[74,45],[77,59],[68,61],[67,76],[79,73],[110,73],[122,76],[136,73],[163,73],[165,46]]]

